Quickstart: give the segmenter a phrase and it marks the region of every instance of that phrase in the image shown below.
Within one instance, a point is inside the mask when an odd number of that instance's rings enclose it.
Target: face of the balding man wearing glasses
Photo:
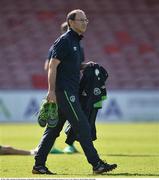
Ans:
[[[83,34],[87,29],[88,19],[84,12],[77,12],[75,20],[71,20],[70,25],[78,34]]]

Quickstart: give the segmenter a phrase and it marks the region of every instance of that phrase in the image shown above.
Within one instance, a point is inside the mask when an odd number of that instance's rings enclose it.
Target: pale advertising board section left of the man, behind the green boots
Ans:
[[[0,121],[36,121],[45,91],[0,91]]]

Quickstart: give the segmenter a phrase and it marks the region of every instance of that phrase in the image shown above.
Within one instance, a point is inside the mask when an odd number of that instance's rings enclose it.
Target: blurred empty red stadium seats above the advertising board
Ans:
[[[44,61],[72,9],[90,20],[86,61],[104,66],[109,89],[159,89],[156,0],[1,0],[0,89],[46,89]]]

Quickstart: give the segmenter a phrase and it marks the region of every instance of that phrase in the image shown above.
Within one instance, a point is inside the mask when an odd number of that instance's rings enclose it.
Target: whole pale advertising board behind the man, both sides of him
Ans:
[[[46,91],[0,91],[0,122],[36,122]],[[159,121],[158,91],[110,91],[99,121]]]

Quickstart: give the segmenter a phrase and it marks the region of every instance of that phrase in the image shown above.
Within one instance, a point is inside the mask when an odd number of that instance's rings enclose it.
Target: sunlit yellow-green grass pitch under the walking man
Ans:
[[[0,144],[33,149],[44,129],[38,124],[0,124]],[[118,168],[104,175],[93,175],[83,151],[74,155],[48,156],[47,166],[57,175],[32,175],[33,156],[0,156],[3,178],[109,178],[159,177],[159,123],[98,123],[98,139],[94,142],[100,157]],[[55,146],[63,149],[65,134]]]

